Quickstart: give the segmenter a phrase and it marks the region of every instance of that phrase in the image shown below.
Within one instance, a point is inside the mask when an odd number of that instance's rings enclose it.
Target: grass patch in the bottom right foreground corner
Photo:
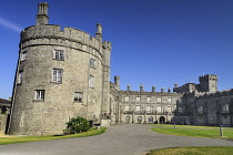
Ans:
[[[206,146],[206,147],[173,147],[154,149],[146,155],[232,155],[232,146]]]

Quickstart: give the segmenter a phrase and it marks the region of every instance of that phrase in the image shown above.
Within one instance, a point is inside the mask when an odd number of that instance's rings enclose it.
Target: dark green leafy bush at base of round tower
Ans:
[[[78,116],[73,117],[67,123],[67,128],[64,130],[64,134],[77,134],[81,132],[87,132],[90,128],[90,124],[88,120]]]

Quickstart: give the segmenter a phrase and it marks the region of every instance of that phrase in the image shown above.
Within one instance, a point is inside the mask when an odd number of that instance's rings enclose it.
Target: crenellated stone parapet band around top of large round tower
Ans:
[[[54,24],[29,27],[21,33],[21,41],[23,46],[57,44],[83,51],[88,51],[89,48],[99,51],[102,44],[89,33],[68,27],[62,31],[60,25]]]

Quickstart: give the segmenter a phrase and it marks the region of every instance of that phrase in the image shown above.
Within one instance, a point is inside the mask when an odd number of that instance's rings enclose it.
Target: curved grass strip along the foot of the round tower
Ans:
[[[26,142],[36,142],[36,141],[48,141],[48,140],[59,140],[59,138],[72,138],[72,137],[85,137],[93,136],[104,133],[107,127],[97,127],[90,128],[88,132],[71,134],[71,135],[44,135],[44,136],[9,136],[0,137],[0,145],[13,144],[13,143],[26,143]]]

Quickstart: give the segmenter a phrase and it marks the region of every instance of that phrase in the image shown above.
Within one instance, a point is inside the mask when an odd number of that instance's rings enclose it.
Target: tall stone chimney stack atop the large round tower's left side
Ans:
[[[37,25],[49,23],[48,8],[49,4],[47,2],[38,4]]]

